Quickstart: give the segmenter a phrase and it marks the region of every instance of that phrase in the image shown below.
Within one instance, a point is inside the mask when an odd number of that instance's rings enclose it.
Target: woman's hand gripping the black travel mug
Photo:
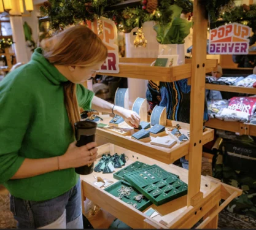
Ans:
[[[77,147],[76,141],[74,141],[69,145],[66,153],[59,157],[60,169],[69,169],[71,167],[80,167],[91,164],[96,160],[97,151],[98,148],[96,148],[96,142]]]

